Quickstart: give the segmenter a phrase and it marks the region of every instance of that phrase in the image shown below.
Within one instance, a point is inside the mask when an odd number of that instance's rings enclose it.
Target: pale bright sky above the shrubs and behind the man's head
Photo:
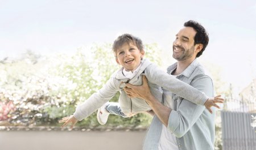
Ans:
[[[112,43],[122,33],[157,42],[164,66],[172,41],[187,20],[209,32],[200,59],[220,65],[223,78],[245,87],[256,78],[256,1],[0,0],[0,59],[30,49],[39,54],[73,53],[80,46]]]

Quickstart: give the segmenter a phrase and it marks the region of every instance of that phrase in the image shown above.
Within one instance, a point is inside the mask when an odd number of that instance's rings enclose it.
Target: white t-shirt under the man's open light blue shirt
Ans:
[[[173,109],[173,104],[172,104],[172,98],[166,97],[168,100],[164,101],[164,105],[166,105],[168,108]],[[168,131],[168,128],[163,125],[162,128],[162,134],[160,136],[159,140],[159,150],[179,150],[177,146],[177,140],[176,136],[172,134],[170,131]]]

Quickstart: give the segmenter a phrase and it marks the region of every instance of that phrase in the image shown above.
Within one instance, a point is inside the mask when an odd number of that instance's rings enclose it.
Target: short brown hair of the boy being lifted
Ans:
[[[134,44],[135,46],[137,46],[137,48],[142,51],[144,50],[144,45],[142,43],[141,38],[135,37],[133,35],[130,34],[123,34],[121,36],[118,36],[117,39],[114,41],[112,50],[114,52],[114,54],[116,55],[117,50],[119,48],[121,48],[121,46],[123,46],[123,44]]]

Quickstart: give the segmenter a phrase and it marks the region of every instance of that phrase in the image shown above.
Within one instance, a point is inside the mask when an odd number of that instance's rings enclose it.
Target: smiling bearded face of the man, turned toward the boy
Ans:
[[[195,45],[194,37],[196,31],[192,27],[182,28],[176,35],[176,39],[172,45],[172,57],[177,61],[185,61],[188,58],[195,59]]]

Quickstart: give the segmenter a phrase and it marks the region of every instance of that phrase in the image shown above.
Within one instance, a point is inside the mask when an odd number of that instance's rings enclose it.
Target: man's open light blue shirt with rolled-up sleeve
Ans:
[[[177,63],[168,67],[167,73],[171,74],[176,67]],[[192,87],[204,92],[205,95],[213,97],[212,79],[196,59],[180,75],[177,75],[177,79],[192,85]],[[215,136],[214,109],[213,114],[210,114],[205,106],[194,104],[163,89],[164,101],[170,100],[168,97],[172,97],[174,109],[170,113],[167,128],[176,136],[179,149],[213,150]],[[155,115],[144,140],[144,150],[158,149],[162,125],[162,122]]]

